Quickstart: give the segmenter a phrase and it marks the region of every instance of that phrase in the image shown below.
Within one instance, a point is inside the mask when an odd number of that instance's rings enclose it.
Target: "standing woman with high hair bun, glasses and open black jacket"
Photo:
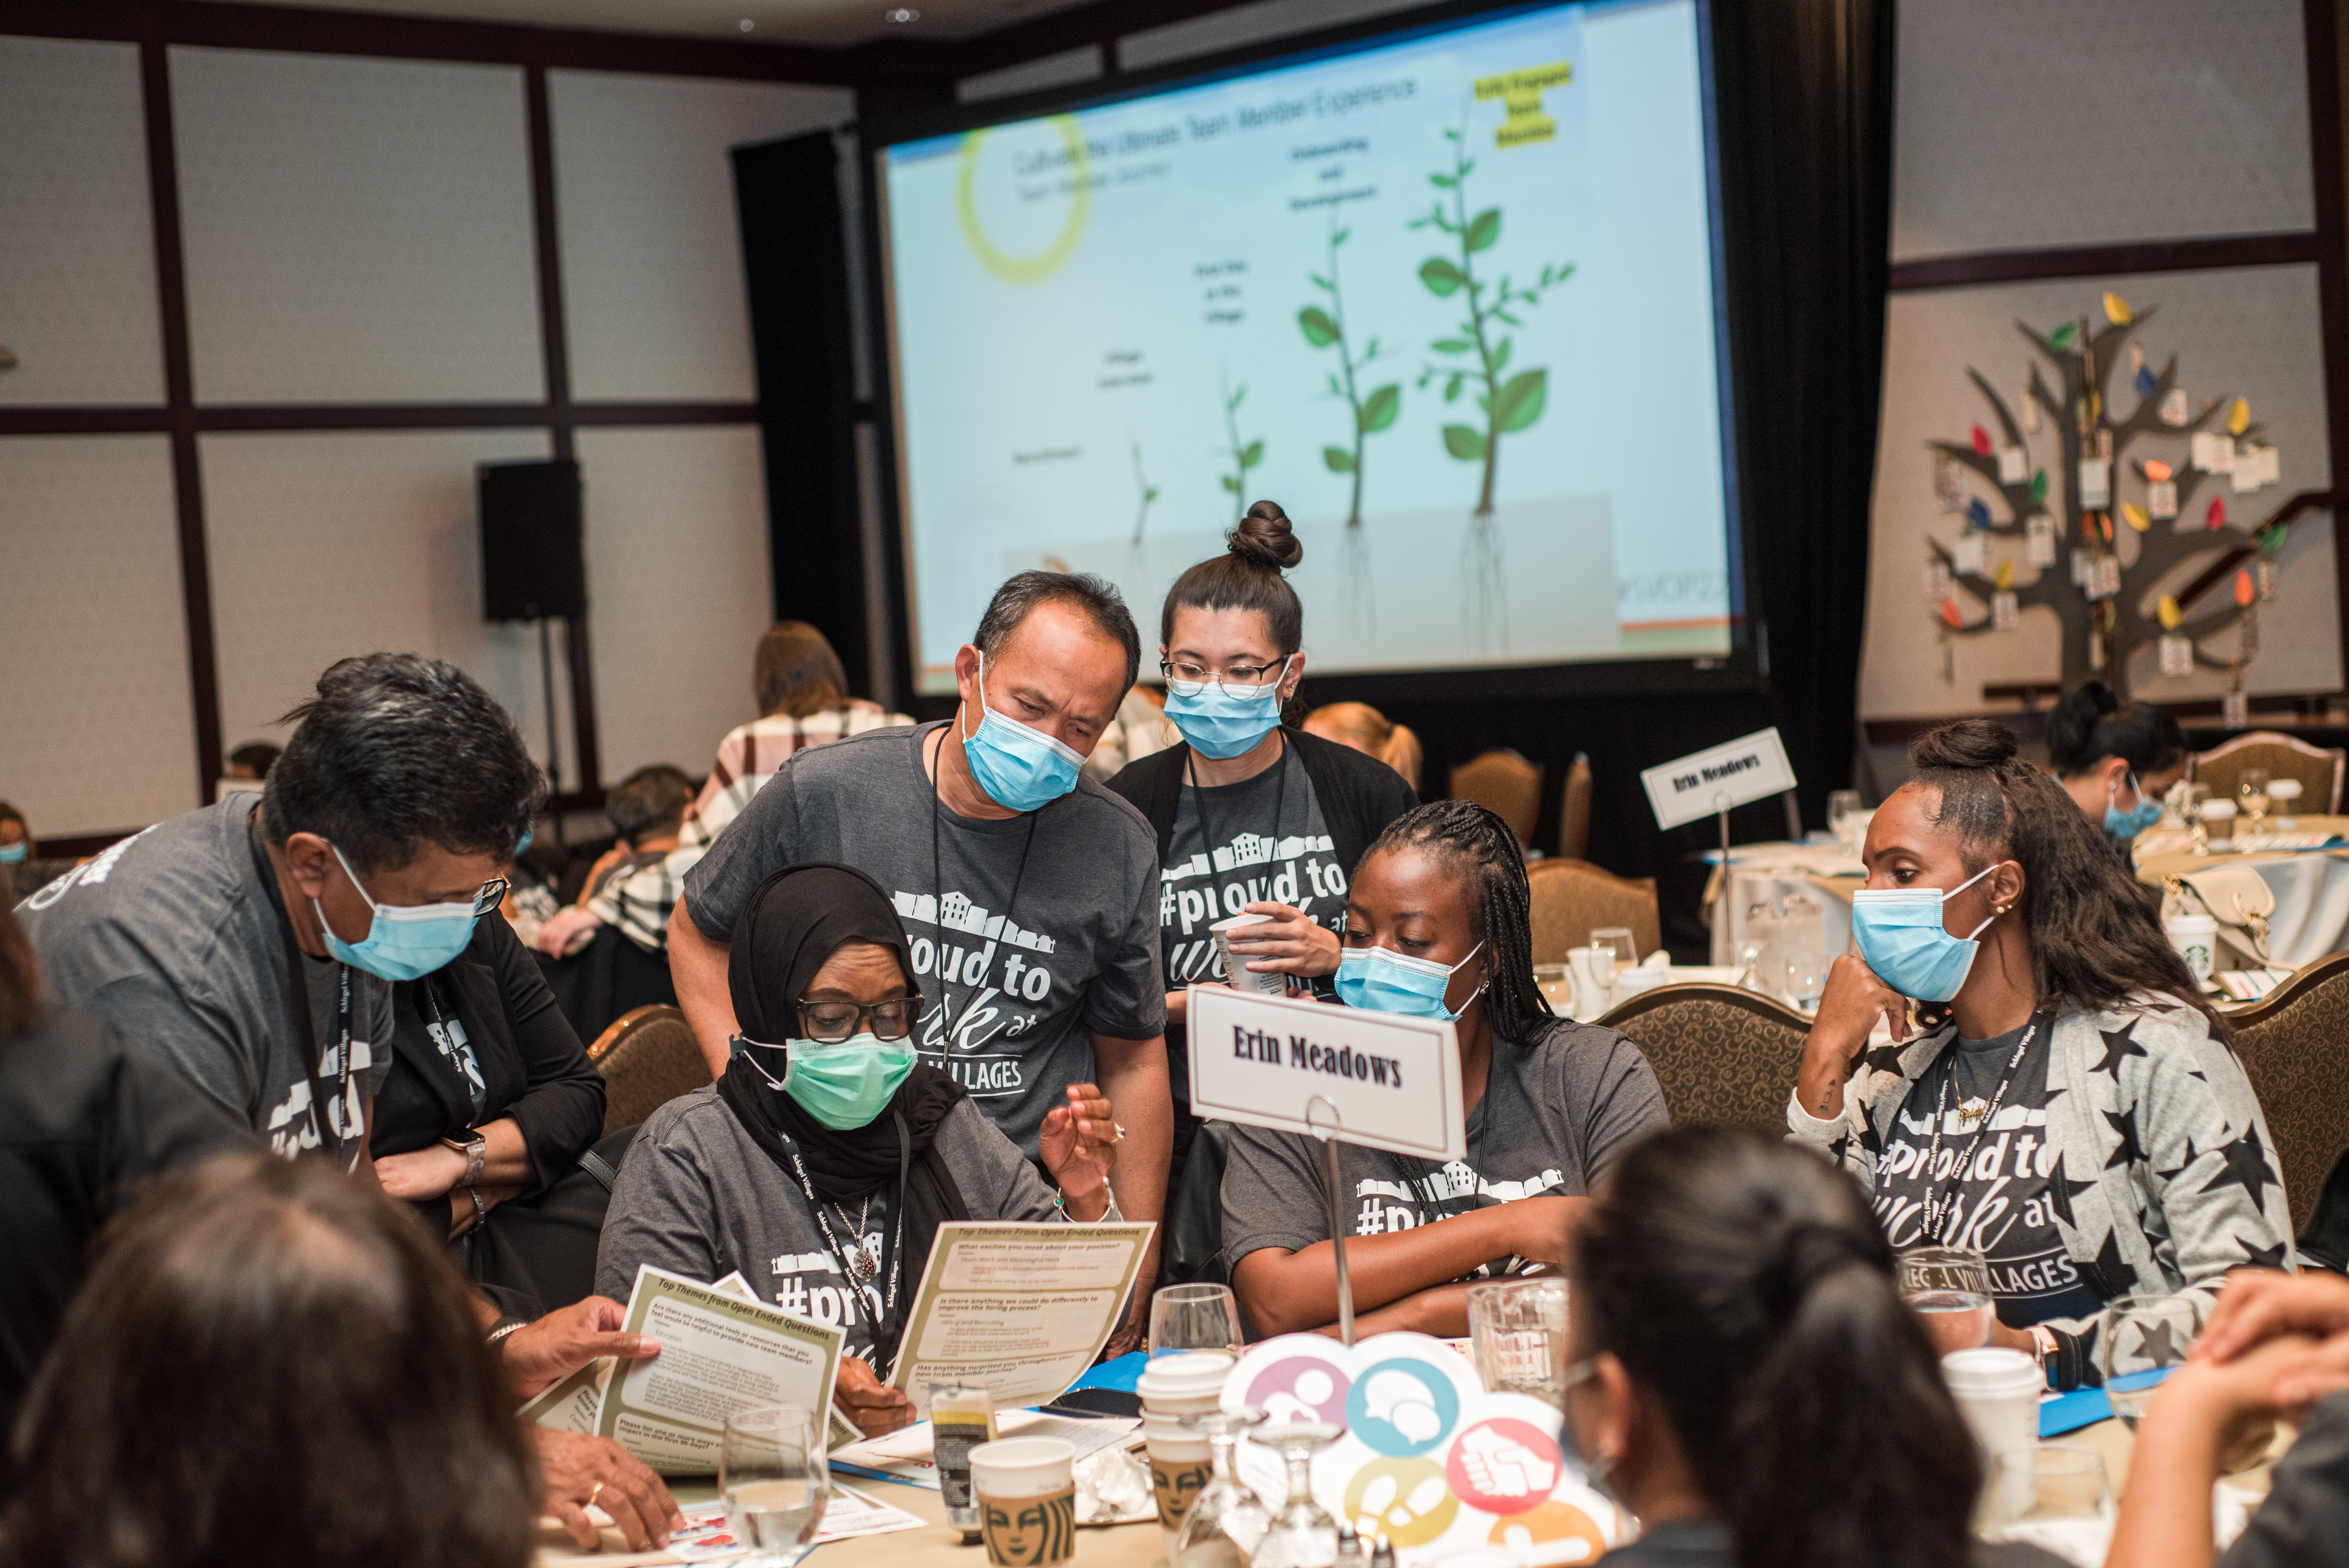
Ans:
[[[1304,554],[1280,507],[1259,500],[1233,528],[1231,549],[1174,580],[1158,615],[1158,669],[1182,744],[1109,782],[1156,829],[1165,878],[1158,948],[1174,1091],[1167,1192],[1179,1188],[1198,1129],[1189,1110],[1184,988],[1224,981],[1210,927],[1268,915],[1231,934],[1233,955],[1257,974],[1290,976],[1292,988],[1327,991],[1353,866],[1388,822],[1419,805],[1386,763],[1280,723],[1306,674],[1306,613],[1283,568]]]

